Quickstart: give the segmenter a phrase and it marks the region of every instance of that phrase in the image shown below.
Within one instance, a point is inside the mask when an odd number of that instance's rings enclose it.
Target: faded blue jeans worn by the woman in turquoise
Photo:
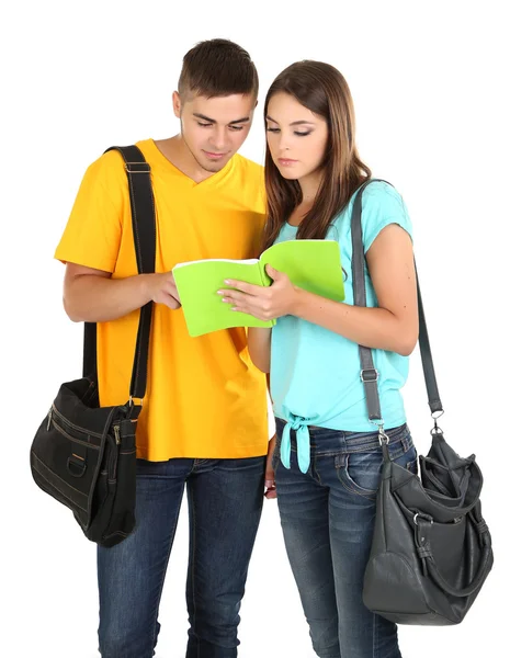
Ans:
[[[401,658],[397,626],[363,604],[363,575],[383,463],[377,432],[310,428],[310,467],[299,470],[295,432],[291,468],[280,462],[284,422],[276,419],[273,465],[285,547],[320,658]],[[389,453],[413,473],[407,426],[387,430]]]

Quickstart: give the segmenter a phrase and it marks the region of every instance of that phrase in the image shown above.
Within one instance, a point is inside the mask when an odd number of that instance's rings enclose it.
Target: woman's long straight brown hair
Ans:
[[[331,220],[344,208],[354,191],[372,175],[358,155],[351,92],[345,79],[333,66],[322,61],[297,61],[283,70],[269,88],[264,103],[264,122],[269,101],[277,92],[294,97],[328,124],[320,186],[314,205],[297,230],[298,239],[324,239]],[[281,175],[269,148],[265,154],[264,175],[268,220],[262,249],[273,245],[282,226],[303,201],[299,183]]]

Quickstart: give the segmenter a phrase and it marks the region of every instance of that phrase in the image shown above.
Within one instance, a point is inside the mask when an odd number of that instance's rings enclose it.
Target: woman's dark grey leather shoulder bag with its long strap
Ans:
[[[351,218],[356,306],[366,306],[361,208],[363,189],[370,182],[358,192]],[[421,478],[389,457],[377,371],[372,351],[360,345],[369,418],[378,427],[383,451],[363,602],[369,610],[398,624],[439,626],[462,622],[492,567],[494,556],[490,533],[481,517],[483,477],[475,455],[460,457],[438,427],[443,407],[419,285],[418,305],[421,361],[434,421],[430,451],[419,458]]]

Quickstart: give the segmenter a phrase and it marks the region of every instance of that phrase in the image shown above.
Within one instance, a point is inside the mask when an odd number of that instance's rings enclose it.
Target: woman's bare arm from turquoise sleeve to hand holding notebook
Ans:
[[[267,320],[295,315],[372,349],[408,355],[418,340],[418,300],[412,243],[409,234],[390,224],[366,253],[377,308],[332,302],[294,286],[268,268],[273,284],[264,288],[229,282],[238,291],[222,291],[236,310]]]

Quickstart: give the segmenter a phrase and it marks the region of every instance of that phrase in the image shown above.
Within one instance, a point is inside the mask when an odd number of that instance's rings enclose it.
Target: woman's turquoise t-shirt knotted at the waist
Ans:
[[[351,212],[355,193],[336,217],[327,239],[338,240],[344,270],[345,304],[353,304]],[[371,183],[363,191],[362,235],[364,252],[381,230],[398,224],[411,235],[411,223],[398,192],[384,182]],[[294,240],[297,227],[285,224],[276,242]],[[347,276],[345,276],[347,275]],[[377,306],[365,262],[366,305]],[[373,350],[378,371],[378,393],[385,429],[406,422],[400,388],[408,375],[408,358]],[[333,331],[295,316],[277,319],[271,338],[271,396],[274,415],[287,422],[282,440],[282,462],[290,464],[290,430],[297,432],[302,470],[309,466],[308,426],[371,432],[358,343]],[[288,467],[288,466],[287,466]]]

